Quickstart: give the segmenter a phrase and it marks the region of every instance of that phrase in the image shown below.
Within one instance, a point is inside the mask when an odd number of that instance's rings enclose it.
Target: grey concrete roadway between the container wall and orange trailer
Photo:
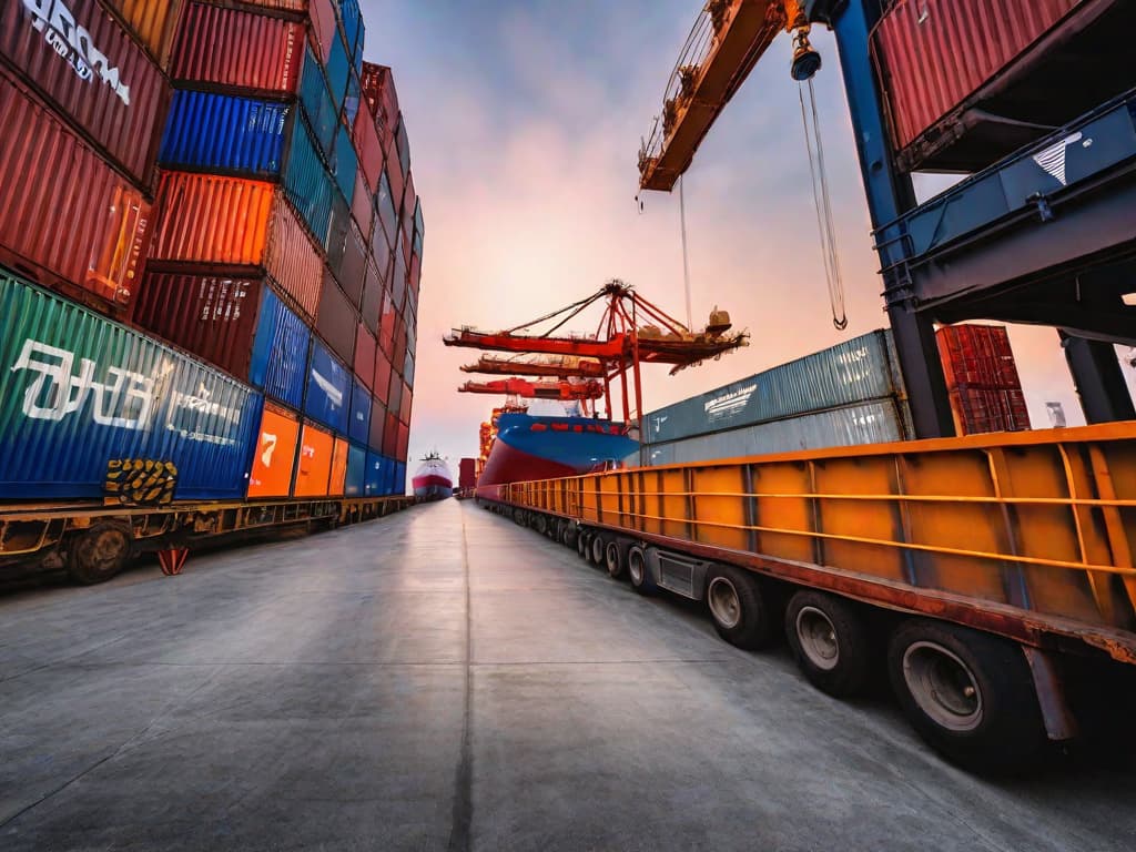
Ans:
[[[1104,852],[1134,799],[958,771],[468,502],[0,600],[8,852]]]

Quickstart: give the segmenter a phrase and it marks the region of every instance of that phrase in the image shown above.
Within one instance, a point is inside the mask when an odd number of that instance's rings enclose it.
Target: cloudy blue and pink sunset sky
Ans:
[[[621,278],[685,314],[678,194],[635,202],[641,137],[699,0],[361,0],[365,56],[393,68],[423,203],[425,248],[411,423],[415,461],[457,473],[500,398],[459,394],[476,350],[452,327],[507,328]],[[695,327],[716,306],[750,346],[668,376],[644,368],[648,411],[886,325],[878,262],[830,34],[815,80],[849,326],[833,327],[790,40],[779,36],[711,128],[685,178]],[[942,178],[920,181],[934,194]],[[578,331],[594,331],[582,324]],[[1035,427],[1046,401],[1084,423],[1051,328],[1011,328]],[[1129,371],[1136,387],[1136,373]]]

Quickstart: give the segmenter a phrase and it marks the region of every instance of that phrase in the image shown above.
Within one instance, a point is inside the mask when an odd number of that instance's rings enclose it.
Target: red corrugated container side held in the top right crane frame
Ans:
[[[905,148],[1083,0],[899,0],[872,48]]]

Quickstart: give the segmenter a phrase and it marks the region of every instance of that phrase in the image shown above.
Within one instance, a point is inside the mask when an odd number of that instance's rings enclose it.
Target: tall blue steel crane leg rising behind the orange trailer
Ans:
[[[810,12],[824,6],[829,3],[805,3]],[[895,166],[871,65],[868,42],[879,19],[879,3],[850,0],[830,6],[834,11],[824,17],[836,34],[868,210],[872,227],[880,228],[916,202],[911,177]],[[888,293],[887,315],[911,402],[914,437],[950,437],[954,435],[954,418],[935,332],[930,319],[925,319],[905,301],[903,282],[899,279],[902,275],[901,266],[886,270],[884,277]]]

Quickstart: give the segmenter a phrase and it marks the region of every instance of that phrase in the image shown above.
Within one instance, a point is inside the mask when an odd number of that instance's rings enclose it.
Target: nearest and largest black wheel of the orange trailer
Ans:
[[[1046,742],[1029,665],[1013,642],[910,619],[892,634],[887,670],[912,727],[963,768],[1019,770]]]

